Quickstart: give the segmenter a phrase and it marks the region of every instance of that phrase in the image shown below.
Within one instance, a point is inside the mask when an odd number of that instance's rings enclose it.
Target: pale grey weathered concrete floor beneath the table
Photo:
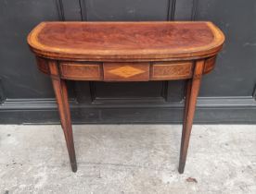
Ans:
[[[72,173],[60,126],[0,126],[0,193],[256,193],[256,126],[74,126]]]

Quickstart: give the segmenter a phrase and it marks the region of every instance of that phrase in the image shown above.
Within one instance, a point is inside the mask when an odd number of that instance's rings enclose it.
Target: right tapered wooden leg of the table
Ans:
[[[202,72],[204,68],[204,61],[198,61],[194,69],[193,79],[188,79],[186,84],[186,103],[184,111],[184,121],[182,129],[181,150],[180,150],[180,162],[179,173],[184,173],[186,164],[186,153],[189,144],[190,133],[193,125],[193,119],[196,109],[196,103],[198,98],[198,91],[200,88]]]

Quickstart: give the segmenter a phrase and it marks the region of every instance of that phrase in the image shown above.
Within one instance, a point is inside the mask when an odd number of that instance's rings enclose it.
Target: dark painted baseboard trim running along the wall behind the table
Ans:
[[[104,101],[106,102],[106,101]],[[181,103],[92,103],[70,99],[73,124],[177,124],[182,122]],[[0,104],[1,124],[58,124],[55,99],[6,99]],[[199,97],[195,123],[256,124],[252,96]]]

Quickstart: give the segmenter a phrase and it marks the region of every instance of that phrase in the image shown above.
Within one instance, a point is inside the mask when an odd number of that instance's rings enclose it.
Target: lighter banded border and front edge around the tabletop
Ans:
[[[50,48],[46,48],[44,45],[40,45],[40,42],[36,40],[37,34],[40,32],[40,30],[45,26],[45,23],[85,23],[84,21],[43,21],[40,24],[38,24],[28,35],[27,42],[32,50],[32,52],[35,55],[39,55],[45,58],[55,59],[55,60],[88,60],[88,61],[127,61],[127,60],[134,60],[134,61],[157,61],[157,60],[180,60],[181,58],[189,59],[198,59],[203,57],[208,57],[211,55],[216,55],[223,47],[224,44],[224,33],[222,30],[220,30],[218,27],[216,27],[211,21],[86,21],[86,23],[206,23],[209,28],[212,31],[212,34],[214,35],[214,39],[210,44],[207,44],[206,46],[200,47],[198,50],[194,51],[186,51],[183,52],[179,51],[176,53],[168,53],[168,49],[161,49],[159,50],[159,53],[154,52],[148,52],[150,50],[147,50],[147,54],[145,55],[135,55],[135,54],[129,54],[128,51],[122,50],[122,53],[120,54],[101,54],[99,55],[97,53],[97,50],[95,52],[91,52],[90,54],[80,54],[75,53],[72,51],[72,53],[66,52],[63,53],[63,51],[60,53],[58,51],[53,51]],[[127,54],[128,53],[128,54]]]

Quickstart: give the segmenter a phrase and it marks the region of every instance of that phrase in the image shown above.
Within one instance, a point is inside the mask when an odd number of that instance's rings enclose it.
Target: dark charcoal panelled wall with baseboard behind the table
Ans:
[[[205,76],[197,123],[256,123],[255,0],[1,0],[0,123],[56,123],[50,79],[27,34],[44,20],[211,20],[226,36]],[[73,123],[179,123],[184,82],[69,82]]]

